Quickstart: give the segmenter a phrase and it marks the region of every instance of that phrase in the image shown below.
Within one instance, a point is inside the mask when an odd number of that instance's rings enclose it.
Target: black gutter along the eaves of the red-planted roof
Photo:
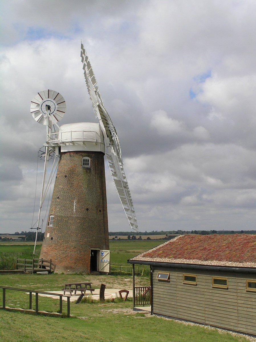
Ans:
[[[206,269],[207,271],[224,271],[224,272],[243,272],[256,273],[256,267],[233,267],[233,266],[214,266],[214,265],[198,265],[198,264],[179,264],[172,262],[144,261],[144,260],[127,260],[128,264],[152,265],[161,267],[178,267]]]

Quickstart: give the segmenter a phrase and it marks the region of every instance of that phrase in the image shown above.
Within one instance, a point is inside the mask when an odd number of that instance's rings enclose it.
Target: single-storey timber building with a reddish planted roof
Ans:
[[[180,235],[128,263],[150,265],[151,314],[256,335],[256,235]]]

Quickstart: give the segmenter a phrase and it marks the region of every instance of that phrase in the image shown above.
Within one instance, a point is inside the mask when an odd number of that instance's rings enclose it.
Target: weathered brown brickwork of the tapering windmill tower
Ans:
[[[90,272],[90,250],[109,249],[102,152],[61,153],[49,216],[40,258],[52,259],[58,273]]]

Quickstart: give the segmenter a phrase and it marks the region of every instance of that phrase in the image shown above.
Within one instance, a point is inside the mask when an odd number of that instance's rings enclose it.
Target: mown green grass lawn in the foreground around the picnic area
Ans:
[[[65,282],[87,279],[98,287],[102,282],[106,288],[131,287],[131,277],[92,275],[0,275],[1,285],[37,289],[60,290]],[[136,278],[139,285],[148,285],[148,278]],[[1,290],[0,290],[1,291]],[[1,293],[1,292],[0,292]],[[2,295],[0,294],[0,301]],[[33,296],[33,308],[35,299]],[[1,302],[2,304],[2,302]],[[6,305],[28,307],[28,294],[7,290]],[[56,312],[59,300],[39,297],[39,310]],[[66,303],[63,303],[63,312]],[[4,342],[242,342],[245,338],[219,333],[216,329],[185,325],[171,319],[150,316],[132,311],[132,301],[114,303],[71,303],[71,314],[75,317],[57,318],[34,316],[21,312],[0,310],[0,341]]]

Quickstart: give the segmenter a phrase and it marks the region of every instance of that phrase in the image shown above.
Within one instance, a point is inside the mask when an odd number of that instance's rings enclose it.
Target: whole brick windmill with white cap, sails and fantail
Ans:
[[[53,90],[39,92],[30,107],[34,119],[47,128],[37,232],[41,207],[57,169],[40,258],[52,259],[53,269],[58,273],[110,271],[104,155],[130,226],[138,229],[119,139],[82,44],[81,58],[99,123],[59,126],[66,105],[64,98]],[[50,155],[54,155],[54,161],[46,182]]]

